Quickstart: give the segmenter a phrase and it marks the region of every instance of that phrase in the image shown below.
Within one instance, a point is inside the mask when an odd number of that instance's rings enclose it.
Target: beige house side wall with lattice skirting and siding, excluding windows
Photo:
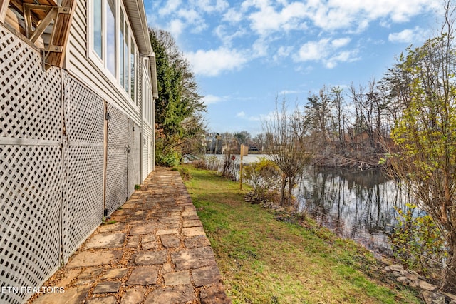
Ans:
[[[63,69],[44,71],[0,22],[0,287],[19,288],[1,303],[30,298],[154,168],[150,54],[133,103],[88,58],[87,29],[78,1]]]

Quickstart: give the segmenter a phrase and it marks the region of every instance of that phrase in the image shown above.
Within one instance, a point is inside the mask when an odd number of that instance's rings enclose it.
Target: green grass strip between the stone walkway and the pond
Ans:
[[[239,183],[192,167],[186,186],[233,303],[421,303],[355,243],[277,221]]]

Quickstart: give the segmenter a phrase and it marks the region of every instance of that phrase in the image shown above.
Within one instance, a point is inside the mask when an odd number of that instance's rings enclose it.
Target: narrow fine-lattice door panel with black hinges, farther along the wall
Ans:
[[[128,118],[117,108],[107,107],[108,161],[106,163],[106,203],[108,215],[125,203],[127,193]]]

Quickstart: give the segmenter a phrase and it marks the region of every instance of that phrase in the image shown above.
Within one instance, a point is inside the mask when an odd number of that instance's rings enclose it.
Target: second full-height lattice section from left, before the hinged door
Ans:
[[[103,141],[101,98],[64,74],[68,144],[63,195],[63,259],[66,262],[103,219]]]

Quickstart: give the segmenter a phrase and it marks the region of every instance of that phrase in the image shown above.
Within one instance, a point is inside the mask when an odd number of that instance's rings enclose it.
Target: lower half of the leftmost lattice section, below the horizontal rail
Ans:
[[[0,283],[40,286],[60,265],[61,149],[0,145]],[[27,293],[0,293],[21,303]]]

